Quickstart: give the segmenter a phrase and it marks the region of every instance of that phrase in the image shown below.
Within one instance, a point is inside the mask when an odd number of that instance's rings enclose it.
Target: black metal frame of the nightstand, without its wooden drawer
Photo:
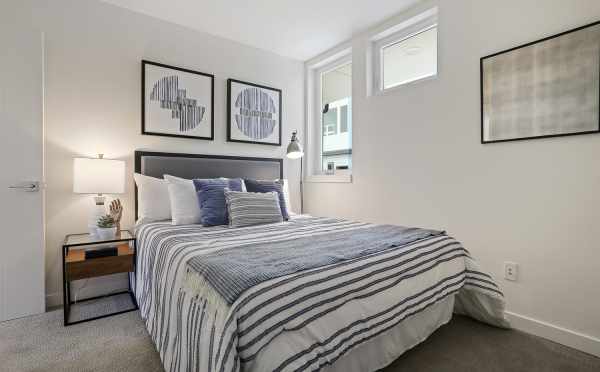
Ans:
[[[135,293],[133,292],[132,288],[131,288],[131,274],[134,274],[134,280],[135,280],[135,275],[137,273],[137,242],[135,239],[135,236],[133,234],[131,234],[131,232],[129,232],[128,230],[123,230],[123,232],[126,232],[129,237],[125,237],[125,238],[115,238],[115,239],[111,239],[111,240],[93,240],[93,241],[89,241],[89,242],[76,242],[76,243],[69,243],[69,239],[72,237],[76,237],[76,236],[89,236],[89,234],[69,234],[65,237],[64,243],[63,243],[63,249],[62,249],[62,270],[63,270],[63,324],[64,326],[70,326],[70,325],[74,325],[74,324],[79,324],[79,323],[84,323],[84,322],[90,322],[92,320],[96,320],[96,319],[102,319],[102,318],[107,318],[109,316],[113,316],[113,315],[118,315],[118,314],[123,314],[123,313],[128,313],[131,311],[136,311],[139,309],[138,307],[138,303],[135,299]],[[86,301],[92,301],[92,300],[97,300],[100,298],[107,298],[107,297],[112,297],[112,296],[118,296],[118,295],[122,295],[122,294],[129,294],[129,296],[131,297],[131,301],[133,303],[133,308],[131,309],[127,309],[127,310],[120,310],[120,311],[116,311],[116,312],[112,312],[112,313],[108,313],[108,314],[103,314],[103,315],[99,315],[99,316],[95,316],[92,318],[86,318],[86,319],[80,319],[80,320],[76,320],[73,322],[69,321],[69,317],[71,315],[71,305],[75,304],[75,301],[71,301],[71,280],[68,277],[68,273],[67,273],[67,256],[69,254],[69,249],[73,248],[73,247],[84,247],[84,246],[93,246],[93,245],[99,245],[99,244],[110,244],[110,243],[129,243],[129,244],[133,244],[133,270],[134,271],[130,271],[128,272],[128,278],[127,278],[127,286],[128,286],[128,290],[126,291],[121,291],[121,292],[117,292],[117,293],[111,293],[109,295],[104,295],[104,296],[95,296],[95,297],[88,297],[88,298],[84,298],[82,300],[78,300],[77,303],[81,303],[81,302],[86,302]],[[88,260],[94,260],[94,258],[92,259],[88,259]],[[102,275],[98,275],[97,277],[100,277]]]

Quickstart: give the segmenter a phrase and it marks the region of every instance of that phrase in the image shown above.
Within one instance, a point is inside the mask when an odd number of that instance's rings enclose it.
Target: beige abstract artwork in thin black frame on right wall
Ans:
[[[481,142],[600,132],[600,23],[481,59]]]

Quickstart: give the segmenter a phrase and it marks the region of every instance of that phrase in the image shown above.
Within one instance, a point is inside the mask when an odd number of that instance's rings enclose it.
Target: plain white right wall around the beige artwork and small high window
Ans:
[[[600,355],[600,135],[481,145],[479,106],[480,57],[597,21],[600,2],[430,4],[436,79],[367,97],[369,35],[352,40],[354,182],[307,183],[306,210],[445,229],[499,281],[509,311]],[[502,279],[504,261],[519,264],[518,282]]]

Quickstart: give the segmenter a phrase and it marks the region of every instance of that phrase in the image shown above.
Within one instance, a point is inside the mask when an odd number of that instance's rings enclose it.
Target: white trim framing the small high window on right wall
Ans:
[[[395,91],[398,89],[401,89],[407,85],[411,85],[411,84],[415,84],[415,83],[419,83],[419,82],[423,82],[423,81],[427,81],[427,80],[434,80],[437,79],[438,75],[439,75],[439,47],[438,47],[438,53],[437,53],[437,58],[438,58],[438,63],[437,63],[437,68],[436,68],[436,72],[433,75],[425,75],[422,77],[418,77],[415,79],[411,79],[405,82],[401,82],[398,84],[395,84],[389,88],[384,88],[383,87],[383,49],[389,46],[392,46],[394,44],[400,43],[404,40],[410,39],[413,36],[416,36],[422,32],[425,32],[427,30],[430,30],[432,28],[437,28],[438,27],[438,17],[437,17],[437,9],[432,9],[429,12],[431,12],[431,15],[428,15],[427,17],[425,17],[422,20],[410,23],[410,25],[408,26],[404,26],[402,27],[400,30],[398,31],[394,31],[392,33],[389,32],[389,30],[380,32],[378,35],[375,35],[374,37],[371,38],[372,40],[372,46],[371,46],[371,50],[372,50],[372,66],[373,66],[373,93],[375,95],[381,95],[381,94],[386,94],[388,92],[391,91]],[[427,13],[427,12],[426,12]],[[439,38],[439,35],[438,35]],[[439,39],[438,39],[438,46],[439,46]]]

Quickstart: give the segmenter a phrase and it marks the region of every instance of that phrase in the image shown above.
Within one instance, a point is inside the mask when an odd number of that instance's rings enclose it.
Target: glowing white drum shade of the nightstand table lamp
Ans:
[[[124,193],[125,162],[110,159],[73,159],[73,192],[77,194]]]

